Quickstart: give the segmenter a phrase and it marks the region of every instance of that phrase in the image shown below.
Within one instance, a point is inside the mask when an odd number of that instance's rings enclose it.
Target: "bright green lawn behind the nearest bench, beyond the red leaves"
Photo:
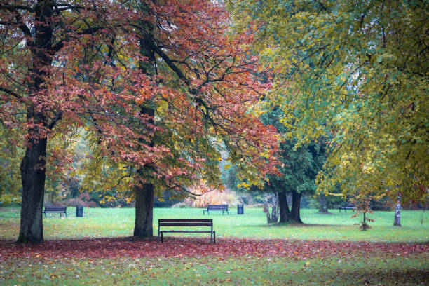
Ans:
[[[302,210],[301,218],[306,223],[297,225],[266,224],[265,214],[259,208],[245,208],[245,214],[238,215],[231,209],[229,215],[213,212],[203,216],[203,209],[156,208],[154,210],[154,232],[159,218],[212,218],[218,237],[240,238],[285,238],[297,240],[367,240],[397,242],[428,242],[429,212],[402,211],[402,227],[393,226],[393,212],[374,212],[369,217],[372,229],[360,231],[355,223],[360,217],[350,218],[352,211],[332,214],[318,214],[316,210]],[[0,239],[13,240],[19,232],[19,209],[6,207],[0,211]],[[69,217],[59,214],[43,217],[43,235],[47,240],[64,238],[123,237],[132,236],[135,210],[132,208],[84,208],[83,217],[75,217],[76,210],[67,208]],[[423,215],[423,225],[421,217]],[[183,233],[178,234],[184,236]],[[195,236],[203,236],[196,234]]]

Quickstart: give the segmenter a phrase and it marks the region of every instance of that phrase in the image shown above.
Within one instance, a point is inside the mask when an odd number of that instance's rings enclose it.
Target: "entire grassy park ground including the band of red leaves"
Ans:
[[[402,211],[402,227],[393,227],[393,212],[374,212],[372,229],[359,231],[351,211],[302,210],[304,226],[280,226],[267,225],[261,209],[155,209],[154,231],[158,218],[212,218],[219,238],[208,245],[207,233],[168,234],[161,245],[122,239],[132,235],[134,209],[67,210],[43,218],[47,242],[28,247],[11,243],[19,209],[0,209],[0,285],[428,285],[429,212]]]

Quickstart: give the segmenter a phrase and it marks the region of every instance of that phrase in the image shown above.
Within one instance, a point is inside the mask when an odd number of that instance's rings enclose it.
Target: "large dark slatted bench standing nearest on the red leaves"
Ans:
[[[210,231],[186,231],[186,230],[161,230],[161,226],[209,226]],[[158,219],[158,236],[156,242],[163,243],[163,233],[210,233],[210,243],[216,243],[216,231],[213,231],[213,219]]]

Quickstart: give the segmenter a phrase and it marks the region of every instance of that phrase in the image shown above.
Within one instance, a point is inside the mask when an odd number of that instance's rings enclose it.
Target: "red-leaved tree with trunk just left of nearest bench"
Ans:
[[[183,196],[190,192],[189,186],[223,189],[222,159],[234,163],[251,184],[262,184],[268,172],[275,172],[278,136],[251,110],[271,86],[257,76],[258,58],[249,48],[252,35],[229,30],[229,15],[222,4],[142,1],[136,5],[139,9],[130,8],[123,29],[128,39],[128,52],[123,55],[128,57],[112,53],[109,60],[147,82],[130,93],[137,104],[116,111],[128,118],[121,126],[132,135],[110,139],[112,132],[122,134],[123,129],[112,130],[110,122],[95,116],[97,130],[90,136],[96,161],[87,165],[92,170],[100,163],[111,166],[116,180],[107,179],[104,186],[120,188],[135,198],[134,234],[149,237],[154,194],[162,196],[169,190]],[[121,37],[114,42],[120,45]],[[129,84],[127,80],[117,79],[121,85]],[[118,91],[110,84],[109,92]],[[141,120],[136,122],[129,114]],[[97,177],[97,172],[90,174],[87,183]]]

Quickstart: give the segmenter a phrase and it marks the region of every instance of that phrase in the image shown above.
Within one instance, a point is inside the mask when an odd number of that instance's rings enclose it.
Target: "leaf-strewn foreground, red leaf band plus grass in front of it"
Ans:
[[[202,238],[0,243],[0,285],[427,285],[429,245]]]

